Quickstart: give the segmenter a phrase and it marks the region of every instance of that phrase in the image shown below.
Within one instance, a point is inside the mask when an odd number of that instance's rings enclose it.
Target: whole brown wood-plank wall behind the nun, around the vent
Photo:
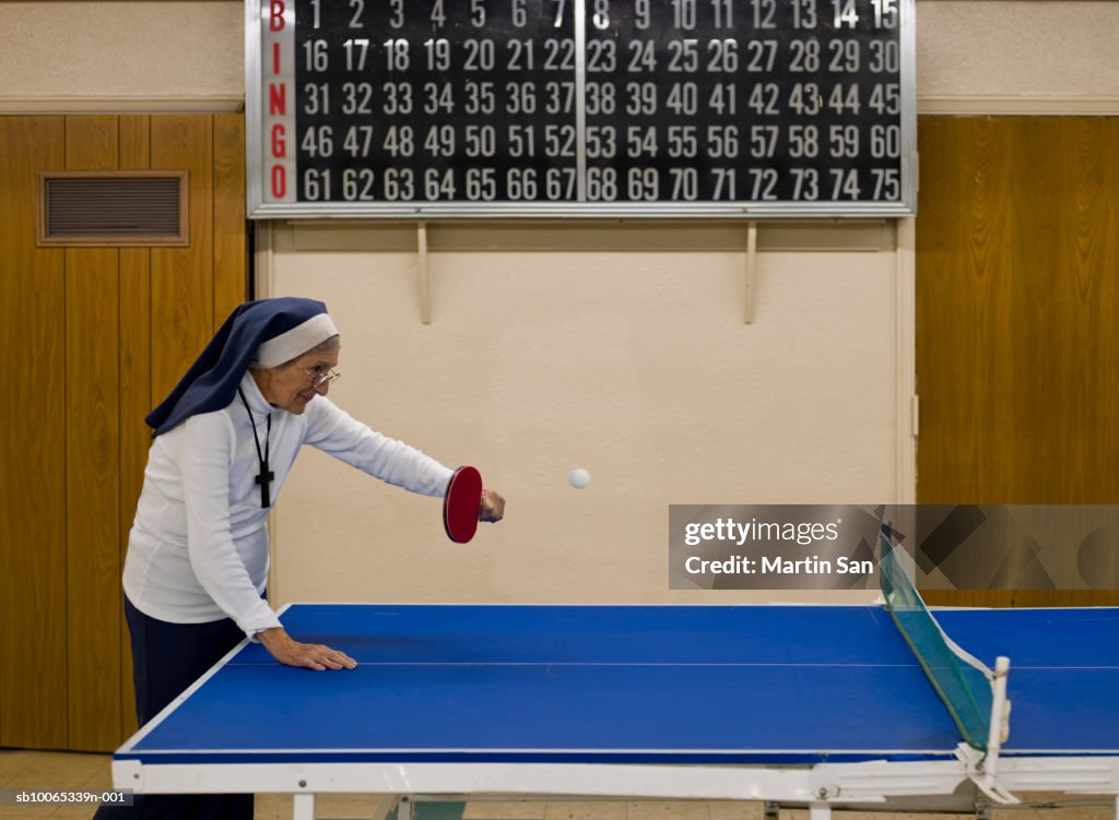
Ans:
[[[120,574],[144,416],[247,293],[236,115],[0,117],[0,746],[135,729]],[[187,169],[186,248],[38,248],[36,173]]]

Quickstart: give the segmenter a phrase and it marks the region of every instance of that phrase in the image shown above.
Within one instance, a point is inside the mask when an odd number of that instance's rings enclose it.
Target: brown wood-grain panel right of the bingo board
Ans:
[[[919,141],[919,501],[1119,502],[1119,119],[922,117]]]

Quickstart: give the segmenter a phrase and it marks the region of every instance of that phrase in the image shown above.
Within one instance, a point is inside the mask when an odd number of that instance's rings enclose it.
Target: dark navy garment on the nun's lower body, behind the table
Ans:
[[[132,678],[140,725],[151,720],[245,633],[231,619],[168,623],[145,615],[124,598],[132,635]],[[252,794],[137,794],[134,805],[103,805],[95,820],[252,820]]]

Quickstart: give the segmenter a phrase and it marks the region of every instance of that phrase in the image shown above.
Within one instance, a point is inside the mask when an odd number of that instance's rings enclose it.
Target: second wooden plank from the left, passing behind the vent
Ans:
[[[66,170],[117,167],[115,116],[66,119]],[[115,248],[66,249],[67,748],[120,731],[120,369]]]

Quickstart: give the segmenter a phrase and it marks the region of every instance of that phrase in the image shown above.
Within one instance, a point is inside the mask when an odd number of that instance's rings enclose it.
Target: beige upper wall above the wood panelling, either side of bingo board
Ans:
[[[918,0],[918,94],[1119,100],[1112,0]],[[0,104],[209,102],[244,95],[229,0],[0,2]],[[110,102],[112,101],[112,103]]]

